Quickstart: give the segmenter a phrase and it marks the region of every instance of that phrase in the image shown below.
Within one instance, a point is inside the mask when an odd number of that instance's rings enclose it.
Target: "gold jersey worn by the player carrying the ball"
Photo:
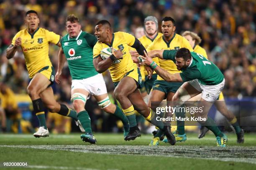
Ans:
[[[137,69],[137,65],[133,63],[129,52],[129,46],[131,47],[134,42],[135,37],[133,35],[126,32],[115,32],[113,33],[113,40],[110,45],[97,42],[93,47],[93,58],[98,57],[103,48],[113,47],[116,50],[122,49],[123,58],[116,60],[108,68],[113,82],[119,82],[128,71]]]

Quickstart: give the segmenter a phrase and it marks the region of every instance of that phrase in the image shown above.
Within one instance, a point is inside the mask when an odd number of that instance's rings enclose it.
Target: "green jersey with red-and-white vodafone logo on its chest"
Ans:
[[[80,31],[76,38],[69,34],[61,38],[61,47],[66,56],[72,80],[82,80],[99,74],[93,66],[92,49],[97,38]]]

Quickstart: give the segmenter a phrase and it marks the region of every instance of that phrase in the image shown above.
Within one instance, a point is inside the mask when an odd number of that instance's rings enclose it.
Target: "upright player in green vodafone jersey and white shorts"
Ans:
[[[85,130],[85,134],[81,135],[81,139],[84,142],[96,143],[91,129],[90,117],[84,108],[90,95],[95,97],[98,105],[105,112],[114,114],[122,120],[124,135],[128,134],[129,124],[127,117],[117,105],[110,102],[103,76],[95,70],[92,63],[92,49],[97,42],[96,37],[82,31],[79,20],[74,15],[67,17],[66,29],[68,34],[61,38],[56,82],[60,82],[61,70],[67,59],[72,77],[71,101]]]

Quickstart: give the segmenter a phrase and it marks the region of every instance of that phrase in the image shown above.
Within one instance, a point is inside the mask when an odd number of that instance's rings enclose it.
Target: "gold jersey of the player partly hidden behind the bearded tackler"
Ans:
[[[164,36],[161,36],[154,40],[151,45],[149,45],[149,50],[178,50],[182,47],[188,48],[189,51],[193,51],[189,42],[179,34],[174,34],[173,38],[166,42]],[[171,74],[181,72],[177,70],[175,63],[172,60],[161,60],[159,59],[159,66],[164,70],[170,72]],[[160,76],[157,76],[157,80],[164,80]]]

